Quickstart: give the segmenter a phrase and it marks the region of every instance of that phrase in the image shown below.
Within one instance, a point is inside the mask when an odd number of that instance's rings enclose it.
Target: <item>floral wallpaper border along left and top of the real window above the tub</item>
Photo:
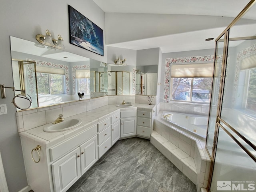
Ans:
[[[200,63],[214,62],[214,55],[166,58],[164,69],[164,102],[168,103],[170,99],[170,71],[174,63]]]

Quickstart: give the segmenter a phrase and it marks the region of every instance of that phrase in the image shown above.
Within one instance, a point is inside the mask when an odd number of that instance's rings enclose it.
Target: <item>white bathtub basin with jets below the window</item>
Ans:
[[[196,138],[206,140],[208,116],[164,111],[161,119]]]

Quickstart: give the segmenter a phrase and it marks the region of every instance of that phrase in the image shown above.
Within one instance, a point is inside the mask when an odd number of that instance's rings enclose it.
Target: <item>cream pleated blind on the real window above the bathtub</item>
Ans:
[[[171,77],[212,77],[213,63],[174,64]]]

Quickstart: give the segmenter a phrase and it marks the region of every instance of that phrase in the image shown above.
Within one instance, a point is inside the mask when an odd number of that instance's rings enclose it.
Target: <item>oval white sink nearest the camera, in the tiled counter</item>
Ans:
[[[44,127],[45,132],[58,132],[72,129],[76,126],[79,126],[82,123],[81,119],[65,119],[63,122],[57,124],[47,124]]]

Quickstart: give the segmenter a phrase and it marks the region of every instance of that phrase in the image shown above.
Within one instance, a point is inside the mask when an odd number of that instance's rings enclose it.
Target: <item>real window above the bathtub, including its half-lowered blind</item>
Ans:
[[[209,103],[212,66],[212,63],[172,65],[171,100]]]

